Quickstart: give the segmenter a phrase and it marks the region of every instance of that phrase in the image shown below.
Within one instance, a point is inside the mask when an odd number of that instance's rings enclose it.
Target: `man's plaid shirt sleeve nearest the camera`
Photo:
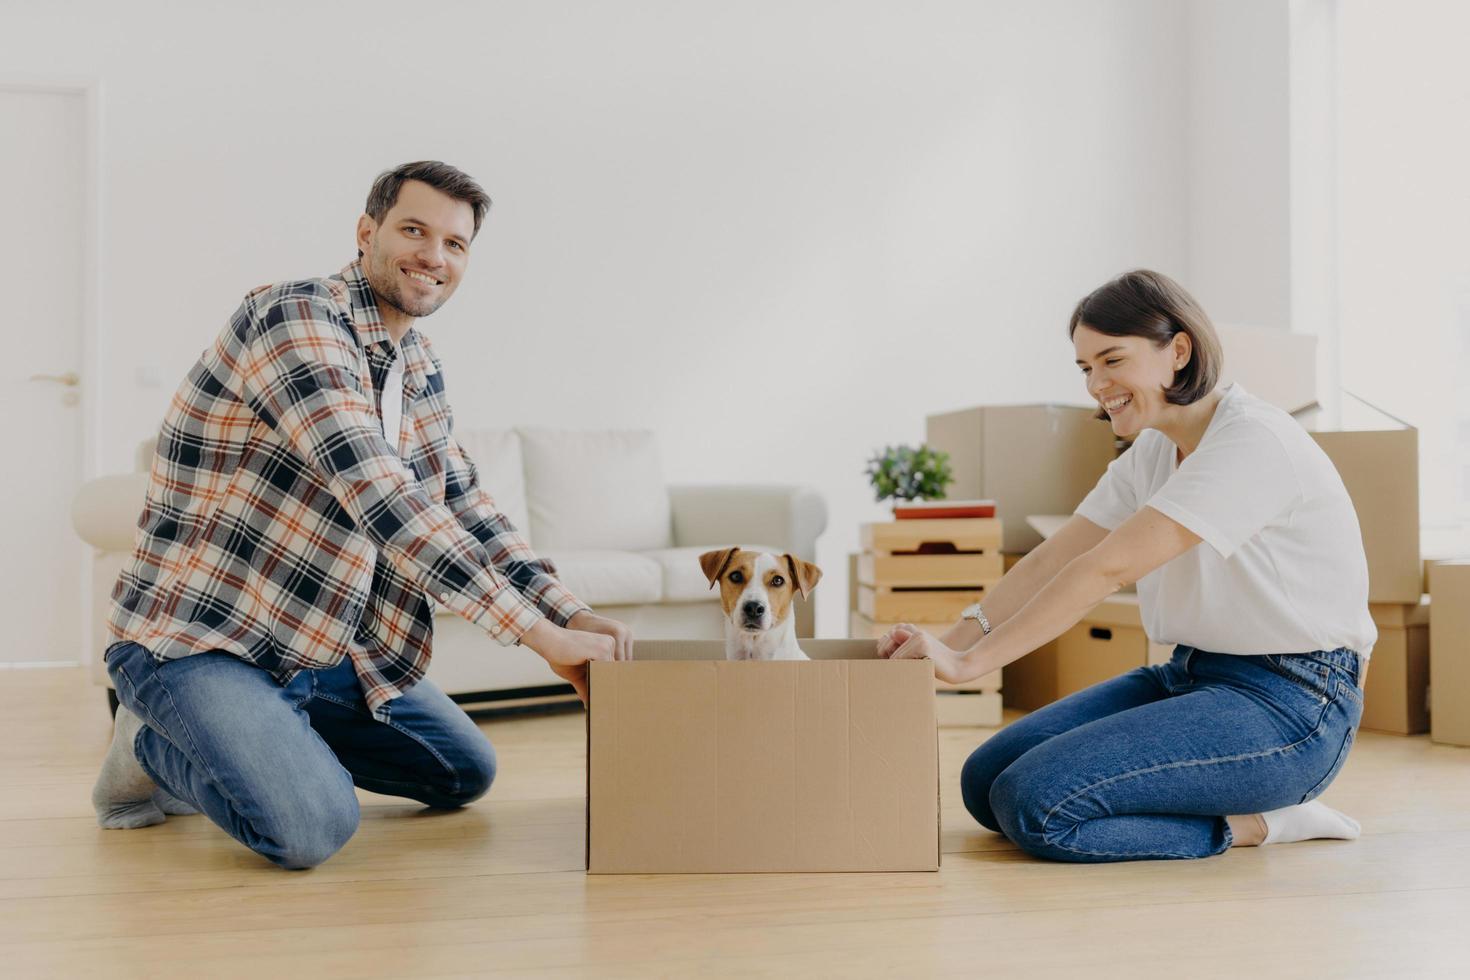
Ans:
[[[357,347],[325,295],[253,310],[241,397],[290,445],[369,541],[441,605],[512,645],[541,611],[481,542],[404,469],[362,389]]]

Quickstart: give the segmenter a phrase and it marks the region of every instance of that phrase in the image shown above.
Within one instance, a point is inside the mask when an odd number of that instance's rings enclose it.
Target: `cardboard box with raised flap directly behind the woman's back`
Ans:
[[[1363,527],[1369,601],[1413,605],[1423,595],[1419,554],[1419,429],[1313,432],[1338,467]]]

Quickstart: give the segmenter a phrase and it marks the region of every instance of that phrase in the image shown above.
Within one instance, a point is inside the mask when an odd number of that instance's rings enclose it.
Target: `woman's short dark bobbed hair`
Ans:
[[[1191,406],[1211,391],[1225,369],[1225,351],[1214,323],[1189,292],[1161,272],[1135,269],[1108,279],[1082,297],[1067,323],[1067,336],[1088,326],[1108,336],[1142,336],[1163,348],[1176,334],[1189,336],[1189,363],[1164,389],[1172,406]],[[1107,419],[1107,413],[1098,413]]]

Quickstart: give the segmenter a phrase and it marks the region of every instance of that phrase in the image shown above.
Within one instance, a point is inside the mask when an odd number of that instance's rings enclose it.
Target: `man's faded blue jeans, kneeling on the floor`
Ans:
[[[463,807],[495,779],[495,752],[428,680],[368,713],[357,674],[303,670],[281,686],[226,652],[159,661],[107,648],[118,701],[144,721],[134,754],[159,786],[285,868],[309,868],[357,830],[353,786],[429,807]]]

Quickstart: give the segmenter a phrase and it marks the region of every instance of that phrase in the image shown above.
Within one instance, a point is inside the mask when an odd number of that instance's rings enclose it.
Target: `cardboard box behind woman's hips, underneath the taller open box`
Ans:
[[[1413,605],[1369,604],[1379,639],[1363,682],[1364,729],[1392,735],[1429,730],[1427,598]]]

